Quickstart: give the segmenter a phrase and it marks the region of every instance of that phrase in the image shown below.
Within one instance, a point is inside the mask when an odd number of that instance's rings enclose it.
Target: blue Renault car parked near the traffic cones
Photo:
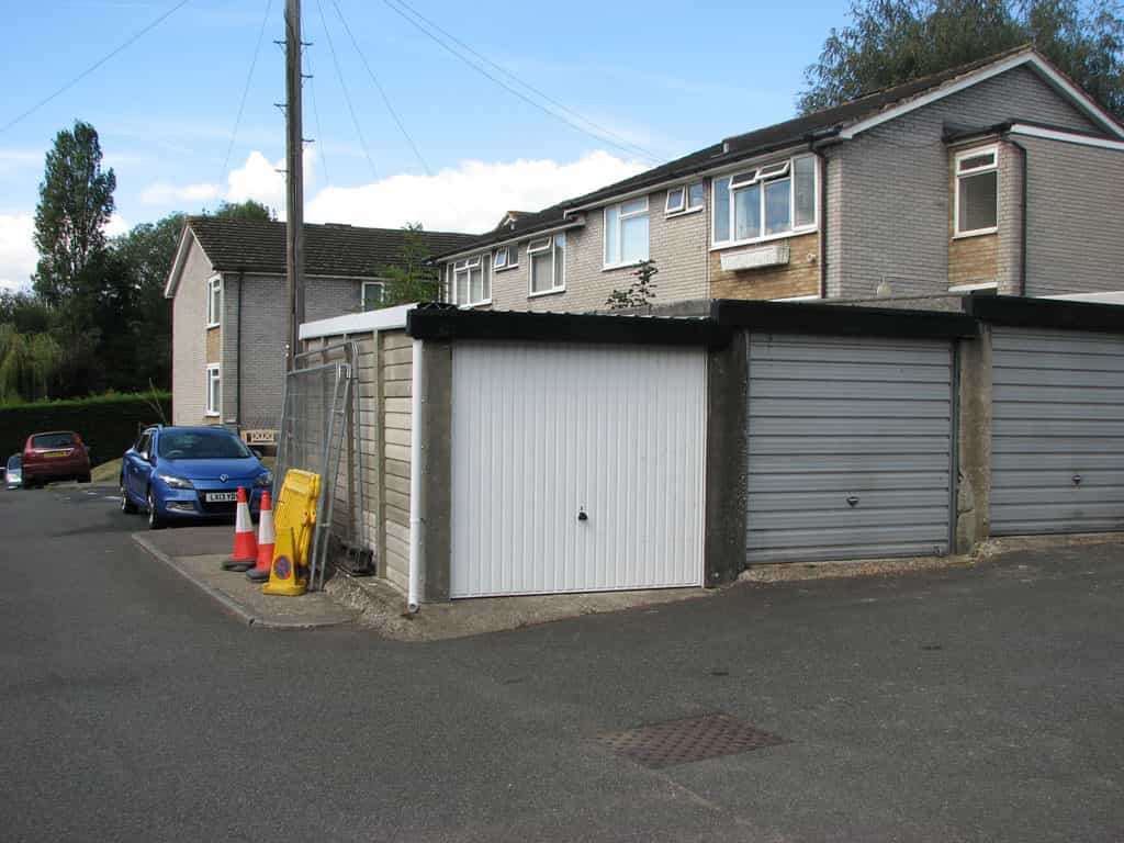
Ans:
[[[148,513],[148,527],[172,520],[229,520],[238,488],[256,516],[273,474],[238,436],[221,427],[149,427],[121,460],[121,511]]]

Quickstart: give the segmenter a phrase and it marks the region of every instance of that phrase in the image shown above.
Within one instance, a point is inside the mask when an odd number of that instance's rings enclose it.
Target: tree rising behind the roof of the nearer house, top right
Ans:
[[[1117,119],[1124,118],[1118,0],[852,0],[805,71],[801,112],[1033,44]]]

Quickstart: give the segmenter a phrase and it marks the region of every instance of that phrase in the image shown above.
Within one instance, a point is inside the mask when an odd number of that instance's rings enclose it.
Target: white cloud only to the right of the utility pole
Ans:
[[[308,202],[310,223],[487,232],[509,210],[536,211],[644,170],[598,151],[578,161],[465,161],[435,175],[392,175],[359,188],[325,188]]]

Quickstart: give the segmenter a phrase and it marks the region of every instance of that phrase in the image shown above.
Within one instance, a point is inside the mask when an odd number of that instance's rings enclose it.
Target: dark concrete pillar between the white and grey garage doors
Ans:
[[[706,536],[703,583],[732,582],[745,570],[745,419],[749,399],[747,330],[707,352]]]

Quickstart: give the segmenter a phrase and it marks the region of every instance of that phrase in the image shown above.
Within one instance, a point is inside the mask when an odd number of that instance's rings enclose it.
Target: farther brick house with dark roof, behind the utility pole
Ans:
[[[430,253],[473,235],[423,232]],[[369,309],[379,271],[401,261],[402,230],[305,226],[309,320]],[[172,414],[176,425],[272,429],[284,373],[283,223],[190,217],[164,296],[172,299]]]

